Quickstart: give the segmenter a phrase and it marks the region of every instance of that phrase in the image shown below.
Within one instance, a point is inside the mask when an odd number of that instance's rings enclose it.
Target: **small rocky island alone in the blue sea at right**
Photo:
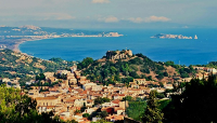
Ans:
[[[158,38],[158,39],[193,39],[192,37],[187,37],[187,36],[182,36],[182,35],[165,35],[165,33],[158,33],[155,35],[151,38]],[[197,39],[197,37],[195,36],[194,39]]]

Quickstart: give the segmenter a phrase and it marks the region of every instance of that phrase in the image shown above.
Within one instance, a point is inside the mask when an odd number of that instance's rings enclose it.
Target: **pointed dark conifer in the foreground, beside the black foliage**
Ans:
[[[151,91],[150,93],[143,123],[162,123],[164,113],[158,109],[156,94],[156,91]]]

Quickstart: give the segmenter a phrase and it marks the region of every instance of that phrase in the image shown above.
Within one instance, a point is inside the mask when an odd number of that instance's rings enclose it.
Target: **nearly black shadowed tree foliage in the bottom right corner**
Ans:
[[[217,77],[209,76],[208,80],[193,79],[182,83],[177,88],[171,100],[162,107],[164,122],[174,123],[210,123],[217,122]]]

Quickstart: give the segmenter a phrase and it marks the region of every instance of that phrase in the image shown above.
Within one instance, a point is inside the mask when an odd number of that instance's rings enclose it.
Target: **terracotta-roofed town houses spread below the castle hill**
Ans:
[[[216,73],[215,68],[194,67],[196,70],[202,70],[196,76],[207,77],[209,72]],[[123,83],[116,85],[99,85],[91,82],[86,77],[80,74],[77,70],[77,66],[71,67],[71,70],[58,70],[54,72],[44,72],[46,79],[41,83],[58,83],[50,86],[30,86],[28,96],[37,100],[38,112],[53,111],[55,115],[60,115],[62,120],[76,120],[79,123],[89,123],[89,119],[84,118],[84,113],[91,114],[101,108],[101,111],[106,111],[108,115],[105,118],[108,122],[115,122],[124,120],[126,115],[125,110],[128,107],[128,102],[123,98],[131,96],[133,98],[145,98],[149,96],[152,90],[156,90],[158,93],[164,93],[166,90],[173,90],[171,83],[163,82],[163,86],[155,81],[146,81],[145,79],[133,79],[133,82],[129,83],[129,86]],[[58,77],[64,76],[64,79]],[[189,82],[191,78],[179,80],[180,82]],[[21,88],[18,79],[1,79],[8,86],[14,86]],[[27,85],[33,85],[35,80],[26,82]],[[150,87],[150,85],[153,85]],[[99,97],[106,97],[111,99],[110,102],[101,105],[94,105],[94,100]],[[79,112],[82,107],[87,107],[82,112]],[[112,110],[112,113],[111,113]],[[92,118],[92,121],[97,121],[100,118]]]

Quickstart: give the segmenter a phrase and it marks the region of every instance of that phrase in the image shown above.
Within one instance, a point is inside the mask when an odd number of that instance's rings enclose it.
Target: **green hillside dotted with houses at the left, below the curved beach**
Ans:
[[[65,69],[73,66],[73,62],[65,62],[61,58],[51,58],[43,60],[22,53],[15,53],[11,50],[0,51],[0,78],[23,78],[26,76]]]

